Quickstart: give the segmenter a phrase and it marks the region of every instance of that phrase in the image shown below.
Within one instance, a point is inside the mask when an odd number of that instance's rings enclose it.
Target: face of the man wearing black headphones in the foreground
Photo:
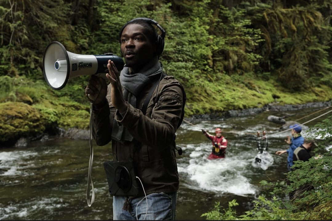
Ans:
[[[138,72],[155,55],[155,44],[150,42],[145,29],[139,24],[127,25],[121,35],[121,52],[127,67]]]

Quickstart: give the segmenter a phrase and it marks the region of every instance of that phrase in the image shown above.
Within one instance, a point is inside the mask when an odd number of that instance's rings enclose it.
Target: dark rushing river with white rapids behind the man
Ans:
[[[183,154],[177,157],[180,188],[176,219],[204,220],[201,214],[211,210],[215,201],[220,201],[227,208],[228,201],[232,199],[239,203],[235,209],[241,213],[252,208],[251,201],[259,194],[268,194],[269,191],[264,190],[259,182],[273,182],[286,177],[287,155],[277,156],[274,153],[288,148],[284,138],[290,135],[290,131],[274,136],[281,130],[277,124],[267,121],[267,117],[294,113],[270,111],[255,116],[202,120],[195,122],[194,126],[183,123],[176,138],[177,145],[183,149]],[[305,118],[300,123],[321,113]],[[288,120],[305,115],[296,115]],[[325,117],[306,126],[312,127]],[[228,140],[226,157],[207,160],[212,146],[201,129],[212,133],[216,127],[225,131],[223,136]],[[268,138],[268,152],[274,159],[267,170],[252,166],[257,149],[256,138],[251,134],[263,130],[271,135]],[[25,147],[1,149],[0,219],[113,219],[112,197],[108,193],[103,168],[103,162],[112,159],[110,149],[110,144],[102,147],[94,145],[92,179],[96,195],[92,207],[88,207],[86,202],[90,157],[88,140],[49,137],[30,142]]]

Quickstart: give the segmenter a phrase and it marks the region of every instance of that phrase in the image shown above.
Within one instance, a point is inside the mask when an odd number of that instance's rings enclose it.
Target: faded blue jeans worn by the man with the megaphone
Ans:
[[[175,193],[151,193],[147,198],[147,213],[145,196],[129,199],[130,211],[123,210],[126,196],[113,196],[114,220],[175,220]],[[137,208],[137,209],[136,209]],[[146,214],[146,216],[145,216]]]

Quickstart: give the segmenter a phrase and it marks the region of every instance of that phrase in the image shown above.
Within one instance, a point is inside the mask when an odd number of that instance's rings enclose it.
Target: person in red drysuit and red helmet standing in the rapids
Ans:
[[[207,159],[217,159],[225,157],[225,150],[227,148],[227,140],[221,136],[221,129],[215,129],[215,136],[210,135],[207,131],[202,129],[203,134],[212,141],[212,153],[207,157]]]

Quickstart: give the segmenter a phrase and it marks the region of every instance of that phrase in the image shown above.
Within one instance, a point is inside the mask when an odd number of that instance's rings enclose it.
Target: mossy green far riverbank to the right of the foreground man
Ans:
[[[277,99],[279,105],[329,101],[332,98],[332,89],[326,85],[294,93],[277,84],[275,79],[264,81],[250,74],[241,78],[223,75],[220,80],[203,81],[200,86],[187,88],[186,93],[186,117],[262,107],[275,102],[272,94],[280,96]]]

